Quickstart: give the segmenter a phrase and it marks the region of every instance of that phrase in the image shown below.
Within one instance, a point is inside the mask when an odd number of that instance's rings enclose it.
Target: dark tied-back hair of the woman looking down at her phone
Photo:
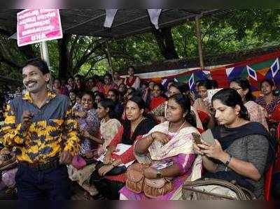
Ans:
[[[250,120],[248,110],[244,106],[241,96],[235,89],[221,89],[221,91],[214,94],[212,97],[212,103],[215,100],[220,100],[225,106],[235,108],[235,106],[240,106],[239,117],[244,120]]]

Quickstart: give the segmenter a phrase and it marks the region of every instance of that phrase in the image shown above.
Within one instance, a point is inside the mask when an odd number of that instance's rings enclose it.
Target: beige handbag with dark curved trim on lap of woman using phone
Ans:
[[[253,200],[256,199],[251,191],[215,178],[204,178],[183,185],[183,200]]]

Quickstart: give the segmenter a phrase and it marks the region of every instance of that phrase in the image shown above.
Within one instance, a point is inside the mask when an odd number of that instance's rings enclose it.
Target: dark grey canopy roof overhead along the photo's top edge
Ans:
[[[0,9],[0,29],[14,33],[17,26],[18,9]],[[232,10],[188,10],[162,9],[158,20],[158,27],[174,27],[194,20],[197,15],[224,15]],[[64,34],[78,34],[84,36],[100,36],[105,38],[124,38],[134,34],[143,34],[155,28],[151,23],[149,13],[145,9],[118,9],[107,11],[107,16],[115,15],[111,28],[104,27],[106,20],[105,9],[61,9],[62,29]],[[116,12],[116,14],[115,14]],[[154,20],[152,21],[154,22]]]

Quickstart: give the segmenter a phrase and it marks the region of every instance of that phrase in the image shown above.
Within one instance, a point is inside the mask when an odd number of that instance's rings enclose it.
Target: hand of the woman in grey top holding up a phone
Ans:
[[[207,157],[218,159],[222,162],[225,162],[226,159],[228,159],[228,154],[223,151],[221,144],[216,139],[215,139],[215,145],[211,145],[209,143],[202,141],[202,144],[197,146],[201,148],[201,152]]]

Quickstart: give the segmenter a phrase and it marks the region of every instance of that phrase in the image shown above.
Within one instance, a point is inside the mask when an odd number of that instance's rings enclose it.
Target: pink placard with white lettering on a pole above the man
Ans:
[[[59,9],[26,9],[18,13],[18,46],[62,36]]]

